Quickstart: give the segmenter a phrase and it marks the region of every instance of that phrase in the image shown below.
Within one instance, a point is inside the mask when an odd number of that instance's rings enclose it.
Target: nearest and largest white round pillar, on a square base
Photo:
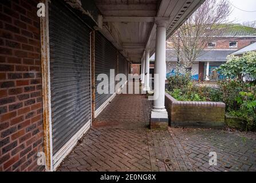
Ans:
[[[155,77],[154,93],[156,99],[153,101],[153,109],[151,111],[151,128],[167,129],[168,113],[164,106],[165,98],[165,82],[166,82],[166,19],[156,19],[156,53],[155,53]],[[157,87],[158,86],[158,87]]]

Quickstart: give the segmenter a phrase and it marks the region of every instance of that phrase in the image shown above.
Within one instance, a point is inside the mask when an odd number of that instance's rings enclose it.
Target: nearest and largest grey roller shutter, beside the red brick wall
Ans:
[[[49,38],[54,155],[90,120],[90,29],[54,0]]]

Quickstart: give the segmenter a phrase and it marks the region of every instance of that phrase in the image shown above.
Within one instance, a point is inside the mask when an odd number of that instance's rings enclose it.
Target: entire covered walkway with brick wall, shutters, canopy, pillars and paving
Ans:
[[[244,134],[168,127],[166,40],[203,2],[1,1],[0,171],[255,170]],[[154,53],[153,104],[116,94]]]

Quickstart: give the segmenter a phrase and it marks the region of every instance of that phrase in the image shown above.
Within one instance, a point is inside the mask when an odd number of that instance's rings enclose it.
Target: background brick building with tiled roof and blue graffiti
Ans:
[[[256,42],[256,29],[240,24],[230,25],[222,36],[213,36],[212,40],[208,42],[207,47],[200,53],[200,56],[192,66],[192,77],[195,80],[200,79],[200,81],[222,78],[222,75],[214,73],[213,70],[226,62],[227,55],[241,49],[243,51],[254,42]],[[175,73],[178,60],[176,51],[170,45],[171,42],[167,41],[167,77]],[[254,45],[256,46],[255,43]],[[151,61],[154,60],[155,57],[153,55]]]

